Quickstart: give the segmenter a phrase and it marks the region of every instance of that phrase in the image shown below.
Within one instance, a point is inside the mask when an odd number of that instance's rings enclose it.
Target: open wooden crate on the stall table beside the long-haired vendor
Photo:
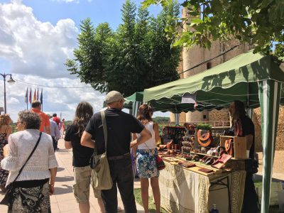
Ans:
[[[246,159],[246,137],[220,136],[221,146],[225,147],[225,141],[234,140],[234,158]]]

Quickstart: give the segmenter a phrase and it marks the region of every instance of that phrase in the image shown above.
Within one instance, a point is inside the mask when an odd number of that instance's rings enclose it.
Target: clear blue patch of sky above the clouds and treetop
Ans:
[[[140,5],[142,1],[135,1]],[[80,21],[89,17],[92,22],[108,22],[111,28],[116,28],[121,23],[122,0],[80,0],[66,3],[64,1],[50,0],[23,0],[23,3],[33,8],[35,16],[40,21],[50,21],[56,24],[58,20],[72,18],[76,26],[79,27]],[[149,8],[153,15],[160,12],[161,6],[151,6]]]

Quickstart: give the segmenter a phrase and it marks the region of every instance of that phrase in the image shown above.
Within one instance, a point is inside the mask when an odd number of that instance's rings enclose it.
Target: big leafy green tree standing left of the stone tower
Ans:
[[[174,1],[155,18],[126,0],[116,31],[107,23],[94,28],[87,18],[80,26],[75,58],[65,63],[67,70],[99,92],[118,90],[126,96],[178,79],[181,48],[171,47],[173,40],[165,33],[165,20],[178,17],[177,8]]]

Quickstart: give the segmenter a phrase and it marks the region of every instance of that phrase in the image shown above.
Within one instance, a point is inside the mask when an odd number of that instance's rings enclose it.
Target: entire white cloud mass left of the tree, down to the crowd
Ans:
[[[38,21],[33,15],[33,9],[21,1],[0,4],[0,59],[11,65],[6,73],[12,73],[16,80],[14,84],[6,83],[7,113],[13,121],[16,121],[18,111],[26,109],[26,88],[29,91],[30,88],[32,91],[42,88],[23,82],[60,87],[89,86],[71,76],[64,66],[66,59],[72,58],[72,51],[77,46],[77,34],[78,29],[72,19],[59,20],[53,26],[49,22]],[[0,107],[4,107],[1,82]],[[43,87],[43,111],[50,114],[56,112],[58,115],[61,113],[66,120],[73,119],[79,102],[87,101],[92,104],[94,111],[99,111],[103,99],[104,94],[92,88]]]

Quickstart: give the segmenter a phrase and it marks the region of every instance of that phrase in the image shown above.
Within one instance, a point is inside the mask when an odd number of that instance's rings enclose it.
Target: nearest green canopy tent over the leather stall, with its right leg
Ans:
[[[179,104],[182,97],[194,94],[197,109],[200,110],[202,107],[229,107],[235,99],[245,102],[248,108],[261,107],[261,212],[268,212],[279,104],[284,104],[283,82],[284,72],[275,58],[249,51],[197,75],[145,89],[143,101]]]

